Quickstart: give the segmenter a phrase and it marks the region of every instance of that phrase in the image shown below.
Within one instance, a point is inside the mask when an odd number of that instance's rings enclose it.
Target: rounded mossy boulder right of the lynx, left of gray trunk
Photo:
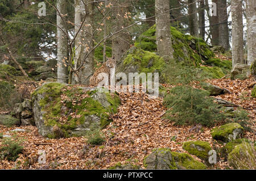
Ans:
[[[121,58],[115,68],[116,73],[160,73],[164,68],[163,58],[152,52],[145,51],[141,48],[132,47]]]

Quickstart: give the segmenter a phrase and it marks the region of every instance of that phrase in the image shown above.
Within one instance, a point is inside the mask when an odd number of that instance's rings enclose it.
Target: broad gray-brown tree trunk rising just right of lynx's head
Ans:
[[[128,25],[128,18],[126,19],[125,13],[129,12],[129,3],[125,0],[115,3],[113,8],[113,16],[115,17],[113,22],[113,32],[122,30],[123,27]],[[119,62],[122,55],[130,48],[131,36],[128,32],[122,31],[112,37],[112,54],[116,62]]]

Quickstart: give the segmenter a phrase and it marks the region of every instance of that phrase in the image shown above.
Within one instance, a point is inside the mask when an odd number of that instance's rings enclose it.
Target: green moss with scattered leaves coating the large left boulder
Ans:
[[[120,104],[119,97],[116,93],[110,95],[109,92],[102,94],[106,95],[106,100],[110,106],[104,107],[98,100],[93,99],[93,95],[98,90],[84,91],[80,87],[68,87],[61,83],[47,83],[40,87],[38,90],[32,93],[33,99],[35,95],[43,95],[43,99],[40,100],[39,104],[42,107],[42,111],[46,112],[43,115],[45,120],[44,124],[48,127],[57,125],[61,129],[61,132],[67,137],[70,135],[71,130],[77,128],[77,125],[82,125],[85,120],[90,121],[91,115],[96,115],[100,118],[100,126],[103,128],[111,120],[109,115],[117,112],[117,107]],[[66,96],[67,98],[62,100],[60,95]],[[84,96],[84,98],[81,98]],[[33,100],[34,101],[34,100]],[[76,112],[76,117],[68,116],[68,111]],[[61,117],[67,117],[65,123],[60,123]],[[54,138],[55,135],[49,134],[49,138]]]

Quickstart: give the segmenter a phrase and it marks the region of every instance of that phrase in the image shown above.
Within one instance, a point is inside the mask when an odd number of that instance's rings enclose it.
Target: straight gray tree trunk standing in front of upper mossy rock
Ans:
[[[170,30],[170,3],[168,0],[156,0],[155,12],[156,15],[156,44],[158,54],[165,60],[174,58],[174,49],[172,48],[171,30]]]

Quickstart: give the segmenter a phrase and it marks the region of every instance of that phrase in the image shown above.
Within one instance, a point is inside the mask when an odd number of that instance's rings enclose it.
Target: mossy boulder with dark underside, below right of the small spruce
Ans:
[[[238,123],[228,123],[211,131],[214,140],[229,142],[241,138],[243,127]]]

